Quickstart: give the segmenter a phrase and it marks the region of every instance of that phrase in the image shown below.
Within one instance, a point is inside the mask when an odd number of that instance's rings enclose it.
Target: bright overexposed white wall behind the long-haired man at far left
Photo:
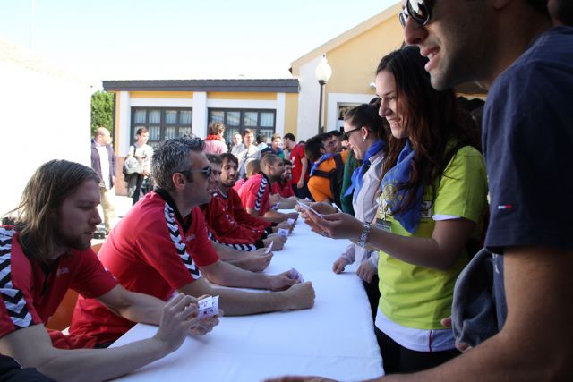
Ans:
[[[16,207],[31,174],[51,159],[90,166],[87,83],[0,62],[0,216]]]

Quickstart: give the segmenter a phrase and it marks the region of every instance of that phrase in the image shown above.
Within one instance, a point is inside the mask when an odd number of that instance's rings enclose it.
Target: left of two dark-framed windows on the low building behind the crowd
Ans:
[[[191,134],[192,109],[175,107],[132,107],[132,135],[130,145],[137,140],[137,130],[145,127],[150,132],[150,146],[163,140]]]

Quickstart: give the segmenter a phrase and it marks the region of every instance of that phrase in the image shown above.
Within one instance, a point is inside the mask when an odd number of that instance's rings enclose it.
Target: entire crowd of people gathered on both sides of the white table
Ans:
[[[217,330],[218,316],[198,318],[207,295],[227,315],[312,308],[311,283],[261,273],[300,213],[352,242],[332,271],[357,264],[387,374],[376,380],[570,379],[570,4],[405,0],[407,46],[381,57],[376,97],[343,132],[266,143],[245,129],[227,148],[212,123],[204,140],[151,148],[140,129],[124,165],[133,208],[115,226],[106,129],[92,168],[40,166],[0,227],[3,378],[121,376]],[[489,89],[483,113],[456,97],[465,81]],[[45,324],[68,288],[81,297],[64,335]],[[157,334],[107,348],[138,322]]]

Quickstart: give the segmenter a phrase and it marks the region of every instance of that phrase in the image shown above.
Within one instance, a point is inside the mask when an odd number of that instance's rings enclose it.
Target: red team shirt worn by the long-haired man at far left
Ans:
[[[111,291],[117,281],[98,261],[93,250],[71,250],[47,265],[46,272],[23,252],[19,233],[0,227],[0,337],[23,327],[46,324],[68,288],[88,298]],[[54,346],[63,349],[93,347],[96,339],[64,336],[49,331]]]

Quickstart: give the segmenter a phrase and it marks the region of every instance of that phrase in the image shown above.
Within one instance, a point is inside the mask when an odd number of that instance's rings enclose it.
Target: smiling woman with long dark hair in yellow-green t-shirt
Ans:
[[[387,373],[429,369],[457,354],[440,319],[451,314],[466,247],[479,237],[486,208],[476,131],[460,115],[453,89],[432,89],[426,62],[417,47],[405,47],[376,70],[391,135],[373,224],[304,213],[316,232],[380,250],[375,330]]]

